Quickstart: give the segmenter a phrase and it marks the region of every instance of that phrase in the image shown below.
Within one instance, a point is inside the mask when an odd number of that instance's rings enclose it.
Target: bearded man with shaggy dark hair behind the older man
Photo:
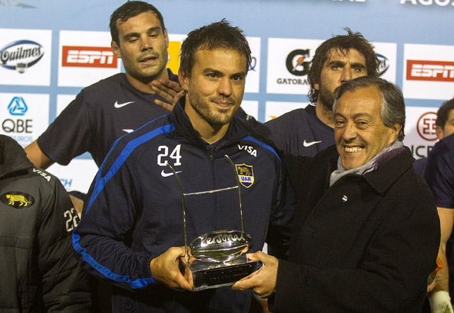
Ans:
[[[332,103],[339,86],[350,79],[377,76],[373,45],[361,33],[337,35],[323,42],[312,58],[307,80],[309,104],[266,122],[259,131],[284,155],[312,157],[334,144]]]

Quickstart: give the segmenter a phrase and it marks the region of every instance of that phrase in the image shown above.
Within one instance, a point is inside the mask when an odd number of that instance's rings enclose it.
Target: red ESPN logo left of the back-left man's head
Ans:
[[[111,48],[63,46],[62,66],[117,68],[117,65]]]

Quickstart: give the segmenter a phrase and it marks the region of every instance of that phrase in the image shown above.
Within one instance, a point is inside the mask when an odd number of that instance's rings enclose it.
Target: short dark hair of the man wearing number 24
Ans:
[[[247,60],[246,74],[251,63],[251,51],[243,31],[233,27],[225,19],[200,27],[188,33],[181,44],[179,70],[190,77],[195,63],[195,53],[198,50],[232,49],[238,51]]]

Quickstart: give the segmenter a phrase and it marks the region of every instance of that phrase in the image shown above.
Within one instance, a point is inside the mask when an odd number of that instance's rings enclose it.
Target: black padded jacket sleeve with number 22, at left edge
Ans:
[[[45,182],[47,184],[47,182]],[[43,199],[38,230],[38,268],[46,312],[90,312],[88,275],[74,259],[71,234],[79,223],[65,188],[56,177]],[[42,188],[43,193],[47,188]]]

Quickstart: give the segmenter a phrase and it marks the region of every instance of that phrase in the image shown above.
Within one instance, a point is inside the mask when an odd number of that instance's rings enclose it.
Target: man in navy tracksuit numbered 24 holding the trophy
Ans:
[[[275,151],[232,118],[243,98],[250,48],[222,20],[189,33],[179,81],[186,96],[170,115],[120,138],[99,168],[73,246],[83,268],[108,279],[113,312],[248,312],[249,291],[191,292],[181,274],[184,193],[241,182],[252,252],[288,243],[293,192]],[[228,155],[236,171],[227,161]],[[241,230],[238,190],[185,197],[188,242],[213,230]]]

